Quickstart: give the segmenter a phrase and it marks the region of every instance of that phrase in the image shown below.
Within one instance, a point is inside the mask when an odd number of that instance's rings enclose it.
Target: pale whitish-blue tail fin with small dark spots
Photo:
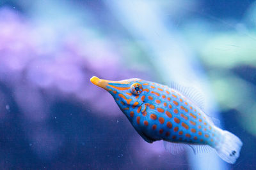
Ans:
[[[236,135],[228,131],[222,131],[222,133],[224,139],[222,143],[216,147],[216,151],[221,159],[230,164],[234,164],[239,157],[243,143]]]

